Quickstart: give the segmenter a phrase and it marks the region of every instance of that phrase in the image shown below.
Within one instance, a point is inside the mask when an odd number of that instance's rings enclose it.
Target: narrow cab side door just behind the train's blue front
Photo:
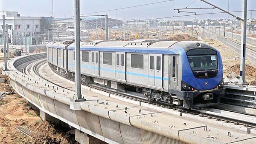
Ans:
[[[177,57],[171,56],[171,63],[170,63],[170,88],[175,89],[177,85]]]

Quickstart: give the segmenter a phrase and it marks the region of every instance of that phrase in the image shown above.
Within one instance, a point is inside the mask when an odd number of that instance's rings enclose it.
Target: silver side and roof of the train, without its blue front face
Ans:
[[[197,107],[193,97],[205,90],[183,90],[182,52],[175,48],[175,45],[181,47],[187,43],[161,40],[81,42],[81,74],[86,83],[93,82],[116,90],[130,86],[147,99],[182,104],[187,108]],[[193,45],[196,43],[192,42]],[[49,65],[63,74],[74,75],[74,54],[73,42],[47,45]],[[212,88],[208,91],[214,93]],[[218,95],[217,92],[215,102],[200,103],[200,106],[217,104]]]

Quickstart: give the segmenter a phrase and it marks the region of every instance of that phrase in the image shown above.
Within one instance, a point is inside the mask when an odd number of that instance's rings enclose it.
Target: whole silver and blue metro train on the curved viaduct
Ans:
[[[68,77],[75,75],[73,41],[47,45],[47,61]],[[81,42],[81,82],[150,101],[185,108],[219,104],[224,96],[221,55],[197,41],[134,40]]]

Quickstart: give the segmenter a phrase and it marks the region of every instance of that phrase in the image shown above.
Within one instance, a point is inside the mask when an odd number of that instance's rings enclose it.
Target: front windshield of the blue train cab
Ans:
[[[192,71],[216,70],[218,68],[217,52],[212,49],[192,49],[187,52],[187,56]]]

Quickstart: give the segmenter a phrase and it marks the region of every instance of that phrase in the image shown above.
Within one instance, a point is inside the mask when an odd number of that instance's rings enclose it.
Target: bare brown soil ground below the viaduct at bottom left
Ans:
[[[9,82],[0,83],[1,94],[12,90]],[[17,126],[32,130],[32,138],[18,131],[15,128]],[[78,143],[75,140],[75,130],[67,130],[48,121],[42,121],[39,111],[33,110],[17,93],[12,93],[0,96],[0,144]]]

